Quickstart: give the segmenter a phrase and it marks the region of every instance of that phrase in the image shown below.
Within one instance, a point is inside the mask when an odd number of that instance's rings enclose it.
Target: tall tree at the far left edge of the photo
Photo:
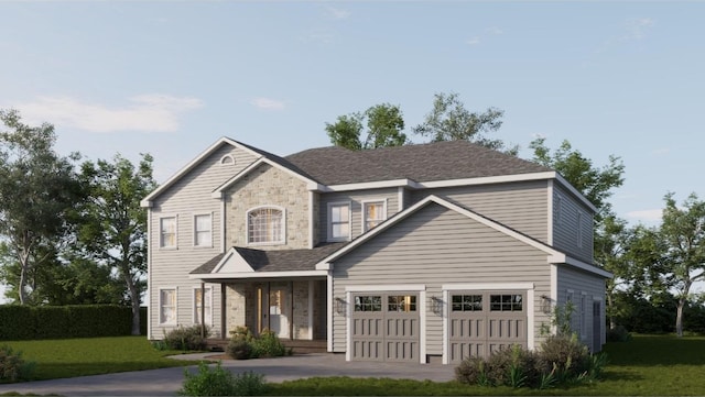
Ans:
[[[54,126],[29,126],[15,110],[0,111],[9,131],[0,132],[0,236],[6,253],[19,265],[18,299],[29,302],[30,276],[56,260],[67,242],[74,205],[82,199],[73,162],[53,151]]]

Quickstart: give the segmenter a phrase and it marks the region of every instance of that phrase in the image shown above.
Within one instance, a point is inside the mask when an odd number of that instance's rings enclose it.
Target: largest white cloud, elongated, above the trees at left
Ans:
[[[203,108],[203,101],[191,97],[160,93],[129,98],[131,104],[109,108],[100,103],[82,102],[72,97],[39,97],[33,102],[18,104],[22,117],[33,123],[48,122],[89,132],[178,130],[182,113]]]

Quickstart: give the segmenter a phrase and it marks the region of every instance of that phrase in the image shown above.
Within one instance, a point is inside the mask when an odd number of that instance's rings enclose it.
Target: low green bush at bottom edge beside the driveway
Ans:
[[[259,396],[267,390],[264,375],[245,372],[232,375],[220,363],[210,370],[207,364],[198,364],[198,372],[191,374],[184,370],[184,383],[178,394],[182,396]]]

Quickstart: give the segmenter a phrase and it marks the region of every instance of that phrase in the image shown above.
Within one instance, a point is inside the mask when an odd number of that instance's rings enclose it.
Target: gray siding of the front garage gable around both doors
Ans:
[[[426,354],[443,353],[443,319],[433,313],[431,297],[451,283],[534,283],[535,330],[549,318],[541,295],[549,295],[546,253],[446,208],[430,203],[408,219],[334,263],[334,298],[346,287],[424,285]],[[334,315],[334,351],[346,350],[346,319]],[[423,331],[422,331],[423,332]]]

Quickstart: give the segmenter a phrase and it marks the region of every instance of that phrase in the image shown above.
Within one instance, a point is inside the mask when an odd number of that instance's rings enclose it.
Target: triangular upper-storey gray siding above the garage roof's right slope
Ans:
[[[414,192],[414,202],[429,195],[456,201],[499,223],[549,243],[546,180],[463,186]]]

